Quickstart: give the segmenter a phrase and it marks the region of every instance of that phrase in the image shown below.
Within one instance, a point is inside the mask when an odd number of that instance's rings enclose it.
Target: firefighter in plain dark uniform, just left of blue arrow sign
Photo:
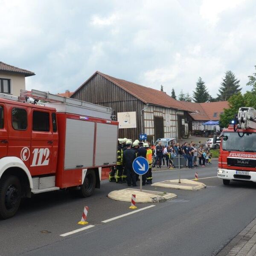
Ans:
[[[132,168],[132,163],[136,158],[136,153],[131,149],[131,140],[126,141],[127,149],[123,152],[123,166],[127,175],[126,181],[128,186],[137,186],[136,175]]]

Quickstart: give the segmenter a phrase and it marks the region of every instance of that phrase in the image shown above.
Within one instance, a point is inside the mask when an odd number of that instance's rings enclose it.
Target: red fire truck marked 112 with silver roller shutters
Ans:
[[[87,197],[116,165],[118,122],[111,108],[32,90],[0,94],[0,218],[22,197],[69,188]],[[29,104],[43,99],[42,105]],[[38,103],[39,103],[38,102]]]

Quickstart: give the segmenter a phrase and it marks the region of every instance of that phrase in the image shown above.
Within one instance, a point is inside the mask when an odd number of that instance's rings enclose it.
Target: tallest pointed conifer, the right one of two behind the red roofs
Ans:
[[[228,100],[230,96],[241,91],[240,80],[236,79],[235,74],[232,71],[227,71],[225,77],[222,79],[220,89],[218,90],[218,98],[221,101]]]

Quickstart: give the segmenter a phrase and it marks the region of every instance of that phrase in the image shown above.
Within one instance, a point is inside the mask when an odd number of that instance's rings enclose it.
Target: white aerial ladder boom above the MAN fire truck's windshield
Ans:
[[[256,129],[256,110],[254,108],[239,108],[237,121],[240,129]]]

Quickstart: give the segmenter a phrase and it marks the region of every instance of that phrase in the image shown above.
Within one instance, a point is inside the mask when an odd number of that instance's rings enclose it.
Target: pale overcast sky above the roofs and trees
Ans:
[[[27,89],[76,90],[96,70],[176,95],[199,76],[216,96],[256,65],[255,0],[0,0],[0,61]]]

